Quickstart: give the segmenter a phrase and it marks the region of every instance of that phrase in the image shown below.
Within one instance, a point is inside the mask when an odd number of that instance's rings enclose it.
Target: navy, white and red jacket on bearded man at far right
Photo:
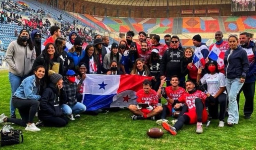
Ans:
[[[247,52],[247,55],[250,55],[251,53],[251,50],[254,52],[254,57],[250,57],[248,56],[248,59],[249,59],[249,62],[250,62],[250,68],[249,68],[249,71],[246,75],[246,78],[245,78],[245,83],[251,83],[251,82],[255,82],[256,80],[256,52],[255,52],[255,48],[256,48],[256,45],[255,43],[253,43],[252,41],[250,41],[249,45],[246,45],[246,46],[242,46],[240,45],[246,52]]]

